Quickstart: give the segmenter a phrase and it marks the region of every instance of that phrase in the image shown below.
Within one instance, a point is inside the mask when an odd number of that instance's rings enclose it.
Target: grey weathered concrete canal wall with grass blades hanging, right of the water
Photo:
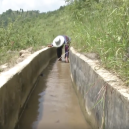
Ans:
[[[129,129],[129,88],[97,60],[70,49],[71,78],[93,129]]]

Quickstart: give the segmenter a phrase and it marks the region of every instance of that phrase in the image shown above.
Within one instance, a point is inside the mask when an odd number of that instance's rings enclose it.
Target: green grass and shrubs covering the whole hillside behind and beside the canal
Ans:
[[[7,10],[0,15],[0,64],[7,51],[34,50],[66,34],[80,52],[99,54],[101,65],[129,83],[129,1],[66,0],[67,6],[39,11]]]

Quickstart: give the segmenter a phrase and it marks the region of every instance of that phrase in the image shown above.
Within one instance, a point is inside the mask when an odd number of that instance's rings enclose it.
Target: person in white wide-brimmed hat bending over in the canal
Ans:
[[[68,63],[70,42],[71,42],[71,39],[68,36],[59,35],[53,40],[51,45],[48,45],[48,47],[57,47],[57,57],[58,57],[58,60],[61,61],[62,49],[65,46],[65,61]]]

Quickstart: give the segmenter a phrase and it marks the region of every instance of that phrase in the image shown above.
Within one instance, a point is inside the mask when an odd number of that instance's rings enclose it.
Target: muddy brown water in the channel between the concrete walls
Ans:
[[[73,89],[68,63],[52,61],[43,71],[18,129],[91,129]]]

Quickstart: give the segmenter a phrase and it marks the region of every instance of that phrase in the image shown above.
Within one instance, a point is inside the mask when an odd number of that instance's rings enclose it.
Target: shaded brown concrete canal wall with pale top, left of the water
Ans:
[[[54,57],[55,48],[44,48],[0,75],[0,129],[15,128],[38,77]]]

